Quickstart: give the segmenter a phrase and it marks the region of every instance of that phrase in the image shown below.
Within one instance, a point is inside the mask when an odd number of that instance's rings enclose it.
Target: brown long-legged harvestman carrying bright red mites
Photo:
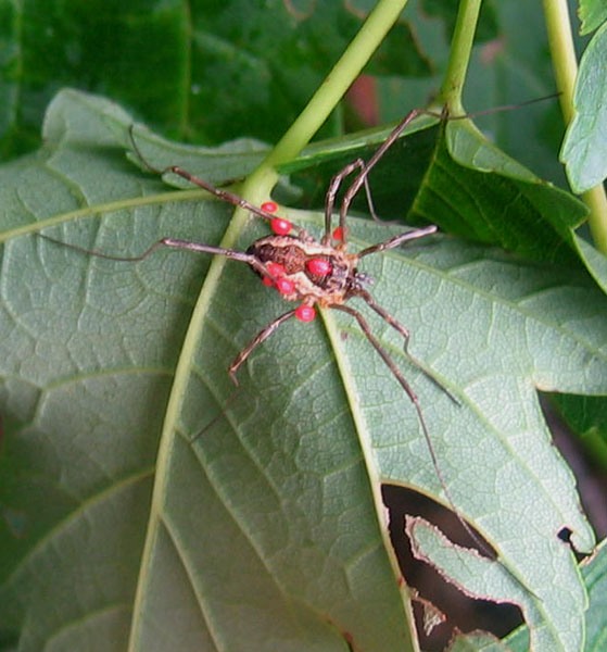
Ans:
[[[274,202],[266,202],[262,204],[262,208],[255,206],[245,199],[229,192],[227,190],[216,188],[207,181],[190,174],[182,167],[174,165],[165,170],[156,170],[150,165],[141,152],[139,151],[135,138],[132,136],[132,127],[130,129],[130,136],[135,152],[139,156],[140,161],[146,165],[148,170],[155,174],[176,174],[191,184],[203,188],[211,195],[218,199],[239,206],[250,213],[253,213],[257,217],[265,220],[273,231],[273,235],[265,236],[255,240],[246,251],[238,251],[233,249],[225,249],[222,247],[215,247],[211,244],[203,244],[199,242],[192,242],[189,240],[181,240],[176,238],[162,238],[154,242],[139,256],[115,256],[108,255],[100,252],[91,252],[89,250],[83,250],[87,253],[93,253],[102,258],[115,261],[141,261],[146,259],[156,249],[163,247],[170,247],[174,249],[186,249],[188,251],[194,251],[198,253],[210,253],[214,255],[223,255],[227,259],[246,263],[263,280],[264,285],[274,287],[287,301],[298,302],[299,305],[292,310],[289,310],[284,314],[276,317],[267,326],[265,326],[252,340],[251,342],[237,355],[231,365],[229,366],[229,375],[233,383],[238,385],[237,373],[241,365],[248,360],[251,353],[268,339],[284,322],[292,317],[300,319],[301,322],[311,322],[316,315],[315,305],[323,309],[333,309],[340,312],[346,313],[354,317],[358,323],[363,334],[367,340],[371,343],[374,349],[383,360],[388,368],[392,372],[395,379],[399,381],[405,393],[415,406],[419,424],[421,426],[423,437],[432,460],[432,464],[437,472],[438,479],[443,488],[445,497],[461,522],[468,534],[479,544],[478,536],[471,531],[468,524],[460,516],[458,510],[455,507],[454,502],[451,498],[446,482],[441,473],[437,455],[430,439],[430,432],[423,417],[421,405],[417,398],[417,394],[413,390],[409,383],[404,377],[401,369],[396,366],[388,351],[380,343],[378,338],[372,334],[371,328],[367,319],[361,312],[346,305],[346,302],[353,298],[359,298],[375,311],[382,319],[384,319],[392,328],[394,328],[404,341],[404,352],[408,360],[417,366],[430,380],[432,380],[442,391],[444,391],[450,399],[457,405],[459,401],[430,372],[425,369],[408,352],[408,342],[410,334],[395,317],[393,317],[385,309],[379,305],[366,287],[370,284],[370,277],[364,272],[359,272],[357,265],[361,259],[370,255],[372,253],[379,253],[395,249],[405,242],[423,238],[431,234],[437,233],[438,228],[434,225],[426,226],[423,228],[412,229],[401,235],[394,236],[383,242],[372,244],[363,249],[357,253],[350,253],[347,251],[347,212],[350,205],[361,190],[365,187],[367,191],[367,198],[371,214],[375,216],[372,203],[370,201],[369,188],[367,185],[367,177],[369,172],[383,156],[385,151],[394,145],[401,134],[410,124],[410,122],[420,114],[428,114],[428,111],[414,110],[408,113],[403,121],[401,121],[396,127],[390,133],[388,138],[379,146],[372,156],[368,161],[363,159],[356,159],[343,170],[341,170],[332,179],[327,190],[325,200],[325,233],[320,240],[315,239],[304,228],[291,224],[288,220],[278,217],[274,214],[277,210],[277,205]],[[332,217],[333,209],[336,205],[336,198],[339,189],[350,175],[356,173],[354,180],[347,187],[343,193],[343,199],[339,208],[339,226],[332,229]],[[60,242],[54,238],[48,236],[41,236],[48,240],[67,246],[69,248],[81,250],[81,248],[66,242]],[[482,548],[485,548],[482,546]]]

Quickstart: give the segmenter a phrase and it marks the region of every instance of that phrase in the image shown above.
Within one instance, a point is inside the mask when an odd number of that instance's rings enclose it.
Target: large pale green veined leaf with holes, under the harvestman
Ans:
[[[243,265],[179,251],[121,263],[37,237],[135,255],[167,235],[243,249],[265,231],[135,167],[129,124],[64,92],[45,148],[2,172],[0,629],[23,650],[410,648],[381,482],[450,504],[413,405],[356,325],[330,310],[287,323],[235,393],[229,363],[286,310]],[[319,231],[321,215],[289,214]],[[356,249],[395,233],[351,230]],[[501,564],[475,584],[472,553],[417,544],[469,592],[520,604],[536,650],[580,649],[585,594],[557,534],[582,551],[593,535],[536,388],[607,392],[605,298],[569,265],[451,237],[365,269],[460,402],[369,315],[419,394],[451,498]]]

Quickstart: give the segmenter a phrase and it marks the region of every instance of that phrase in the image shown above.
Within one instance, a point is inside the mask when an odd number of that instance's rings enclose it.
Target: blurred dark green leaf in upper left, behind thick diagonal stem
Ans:
[[[374,4],[0,0],[0,151],[31,148],[65,86],[118,98],[173,136],[274,142]],[[403,20],[369,72],[418,76],[429,65]]]

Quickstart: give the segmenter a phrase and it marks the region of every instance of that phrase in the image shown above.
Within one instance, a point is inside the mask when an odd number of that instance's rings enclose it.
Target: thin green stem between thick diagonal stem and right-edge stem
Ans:
[[[472,53],[481,2],[482,0],[461,0],[459,3],[451,41],[448,66],[439,96],[440,102],[445,104],[453,115],[465,113],[461,104],[461,93]]]

